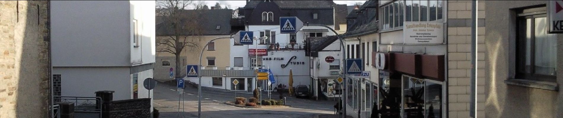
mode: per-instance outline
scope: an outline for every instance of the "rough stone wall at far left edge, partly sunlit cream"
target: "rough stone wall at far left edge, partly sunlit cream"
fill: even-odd
[[[48,1],[0,1],[0,117],[48,117]]]

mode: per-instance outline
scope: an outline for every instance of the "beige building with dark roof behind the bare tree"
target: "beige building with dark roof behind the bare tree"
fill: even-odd
[[[180,41],[193,43],[193,45],[186,46],[182,53],[180,53],[179,62],[182,69],[180,70],[181,77],[186,77],[186,65],[187,64],[198,64],[199,54],[203,49],[203,46],[207,44],[210,40],[216,39],[218,37],[230,37],[233,34],[233,27],[231,26],[231,17],[233,10],[184,10],[182,13],[186,18],[195,18],[188,20],[186,19],[185,27],[196,27],[198,33],[190,34],[188,30],[182,31],[180,35]],[[198,16],[198,17],[192,17]],[[173,28],[169,25],[170,21],[167,21],[166,16],[159,16],[157,20],[157,40],[166,43],[170,36],[175,37],[173,33]],[[191,23],[196,23],[195,25]],[[238,30],[236,30],[238,31]],[[176,38],[176,37],[175,37]],[[174,40],[170,40],[173,42]],[[170,49],[172,48],[170,43],[160,44],[157,43],[157,50]],[[219,39],[207,46],[202,55],[202,69],[225,69],[229,67],[230,58],[230,45],[227,39]],[[166,52],[157,51],[156,56],[157,62],[155,63],[155,74],[154,77],[160,82],[172,81],[173,77],[170,77],[170,69],[173,69],[173,74],[176,74],[176,55]],[[207,80],[207,79],[206,79]],[[211,80],[211,79],[210,79]],[[197,82],[197,81],[192,81]],[[210,81],[211,82],[211,81]],[[203,82],[207,83],[207,82]]]

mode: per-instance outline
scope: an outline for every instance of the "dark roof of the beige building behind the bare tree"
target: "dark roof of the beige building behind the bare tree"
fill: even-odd
[[[185,24],[183,26],[195,26],[199,27],[201,35],[230,35],[231,25],[230,20],[232,17],[233,10],[185,10],[184,14],[190,17],[191,20],[184,19],[182,23],[198,22],[195,25]],[[155,19],[157,21],[156,35],[157,36],[170,36],[173,35],[173,30],[170,23],[163,20],[164,16],[157,16]],[[220,29],[217,30],[217,26],[220,25]],[[182,35],[190,35],[187,32]]]

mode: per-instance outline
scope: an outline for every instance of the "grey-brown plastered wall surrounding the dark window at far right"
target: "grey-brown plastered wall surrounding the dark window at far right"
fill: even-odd
[[[512,8],[543,5],[547,1],[486,1],[486,28],[484,43],[487,53],[484,58],[484,82],[486,117],[563,117],[563,62],[557,61],[559,91],[515,86],[504,83],[515,78],[515,11]],[[494,7],[492,7],[494,6]],[[557,34],[557,58],[563,56],[563,34]],[[480,47],[480,48],[481,48]],[[517,78],[516,78],[517,79]]]

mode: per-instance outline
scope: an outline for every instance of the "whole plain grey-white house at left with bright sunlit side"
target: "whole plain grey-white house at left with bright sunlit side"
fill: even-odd
[[[51,1],[55,96],[147,98],[153,78],[155,1]],[[152,108],[151,108],[152,109]]]

